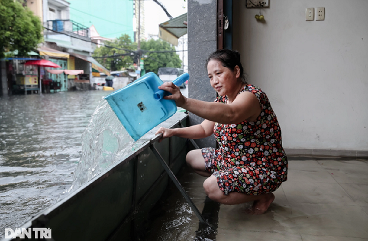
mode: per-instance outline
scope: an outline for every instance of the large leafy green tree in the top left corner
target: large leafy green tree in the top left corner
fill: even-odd
[[[18,1],[0,0],[0,23],[0,58],[15,50],[27,56],[42,42],[40,19]]]

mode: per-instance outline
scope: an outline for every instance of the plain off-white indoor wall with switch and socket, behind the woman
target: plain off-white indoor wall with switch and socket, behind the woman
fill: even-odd
[[[368,1],[273,0],[265,23],[233,1],[233,49],[295,149],[368,150]],[[305,8],[325,7],[324,21]]]

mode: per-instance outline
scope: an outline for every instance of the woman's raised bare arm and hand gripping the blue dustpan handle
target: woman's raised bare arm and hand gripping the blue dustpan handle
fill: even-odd
[[[186,98],[181,94],[180,89],[171,82],[166,82],[159,88],[171,93],[164,99],[173,99],[177,106],[213,122],[236,124],[244,120],[252,121],[261,113],[257,97],[247,91],[239,94],[232,103],[224,104]]]

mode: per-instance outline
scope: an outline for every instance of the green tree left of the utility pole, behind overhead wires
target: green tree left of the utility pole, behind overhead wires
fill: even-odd
[[[96,48],[92,56],[106,69],[116,71],[133,64],[137,44],[132,43],[128,34],[123,34],[113,41],[107,41],[105,45],[109,47]],[[117,56],[113,57],[114,55]]]

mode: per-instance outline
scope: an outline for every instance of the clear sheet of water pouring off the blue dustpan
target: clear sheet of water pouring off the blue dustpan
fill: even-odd
[[[110,108],[101,99],[82,134],[82,156],[75,168],[68,192],[80,187],[111,164],[130,153],[134,140]]]

